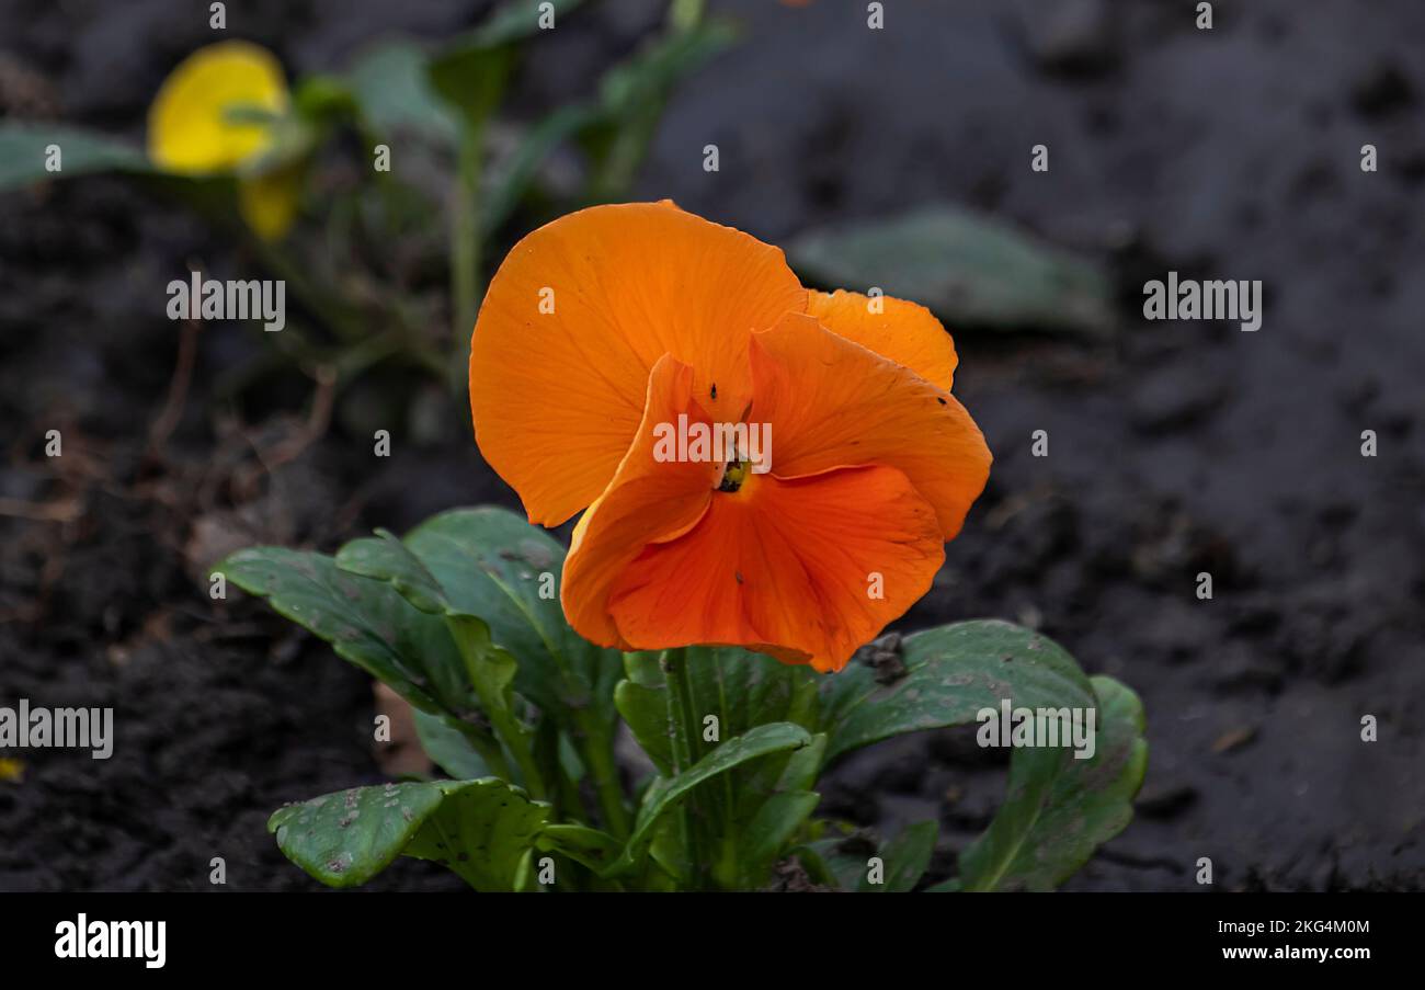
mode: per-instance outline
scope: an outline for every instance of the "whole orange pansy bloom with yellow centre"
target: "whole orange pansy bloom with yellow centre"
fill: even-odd
[[[989,477],[955,366],[923,306],[809,292],[741,231],[621,204],[500,265],[470,410],[532,523],[587,509],[561,583],[580,635],[832,671],[929,590]],[[674,424],[762,430],[770,460],[670,459]]]

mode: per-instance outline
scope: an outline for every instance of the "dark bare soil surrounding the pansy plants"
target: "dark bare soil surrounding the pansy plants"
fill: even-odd
[[[323,70],[479,6],[258,3],[239,24],[229,4],[229,33]],[[1123,292],[1113,340],[956,335],[956,392],[996,463],[899,628],[1016,620],[1141,695],[1137,816],[1073,889],[1198,889],[1203,856],[1217,889],[1425,889],[1425,7],[1224,0],[1198,31],[1193,6],[893,0],[878,33],[856,4],[714,3],[744,41],[673,101],[638,191],[772,242],[949,199],[1103,259]],[[581,93],[656,7],[569,17],[519,105]],[[137,140],[162,75],[212,40],[191,9],[6,4],[4,111]],[[234,278],[252,259],[118,178],[0,209],[0,704],[113,705],[117,731],[108,761],[11,754],[0,890],[212,889],[214,856],[229,889],[315,887],[264,823],[382,779],[370,684],[254,603],[211,603],[205,564],[513,496],[459,402],[390,405],[399,375],[363,379],[309,434],[319,386],[299,372],[217,397],[264,346],[249,326],[197,333],[167,429],[182,330],[162,286],[194,259]],[[1263,279],[1261,330],[1141,321],[1144,279],[1168,269]],[[389,460],[372,409],[396,410]],[[1039,429],[1049,457],[1030,454]],[[822,811],[884,833],[938,816],[943,875],[1002,786],[968,735],[932,734],[852,758]],[[406,860],[372,886],[459,883]]]

